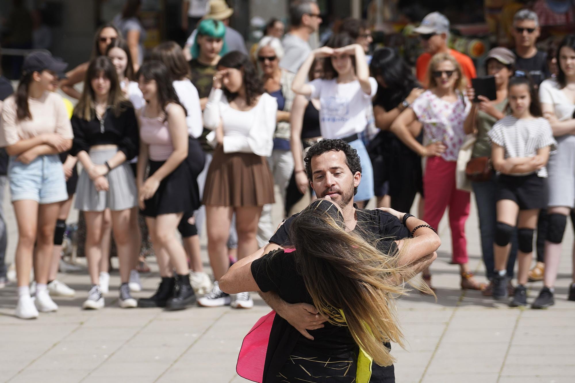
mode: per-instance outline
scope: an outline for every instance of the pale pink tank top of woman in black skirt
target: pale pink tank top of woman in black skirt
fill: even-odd
[[[170,107],[168,105],[167,108]],[[145,117],[145,106],[140,114],[140,138],[148,145],[148,156],[152,161],[166,161],[174,152],[168,121],[162,113],[158,117]]]

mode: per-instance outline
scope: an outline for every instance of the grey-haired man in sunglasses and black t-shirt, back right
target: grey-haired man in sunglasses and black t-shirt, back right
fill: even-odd
[[[540,35],[537,14],[530,9],[517,11],[513,17],[511,33],[515,39],[513,53],[517,56],[515,69],[528,74],[535,86],[539,86],[543,80],[551,77],[551,73],[547,66],[547,53],[539,51],[535,46]]]

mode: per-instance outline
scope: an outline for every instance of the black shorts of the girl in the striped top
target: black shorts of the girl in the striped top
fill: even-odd
[[[514,201],[519,210],[544,209],[549,201],[547,179],[537,173],[527,176],[508,176],[500,174],[496,179],[497,201]]]

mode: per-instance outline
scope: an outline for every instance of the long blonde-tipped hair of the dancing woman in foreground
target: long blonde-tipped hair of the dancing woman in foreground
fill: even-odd
[[[347,326],[356,344],[378,365],[391,365],[395,359],[383,342],[404,347],[395,299],[407,291],[404,281],[415,277],[397,263],[408,246],[397,254],[378,250],[381,239],[369,243],[368,235],[345,231],[338,208],[323,199],[293,220],[290,237],[298,273],[317,310],[329,323]],[[412,285],[433,294],[424,283]]]

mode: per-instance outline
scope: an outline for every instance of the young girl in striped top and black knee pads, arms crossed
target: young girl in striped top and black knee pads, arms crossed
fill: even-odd
[[[518,285],[511,307],[527,304],[527,273],[533,251],[533,231],[539,210],[547,207],[549,155],[557,146],[549,122],[541,114],[538,96],[530,80],[509,80],[511,114],[495,123],[488,135],[492,141],[493,168],[497,171],[497,224],[495,231],[493,298],[507,297],[509,240],[517,225],[519,239]]]

